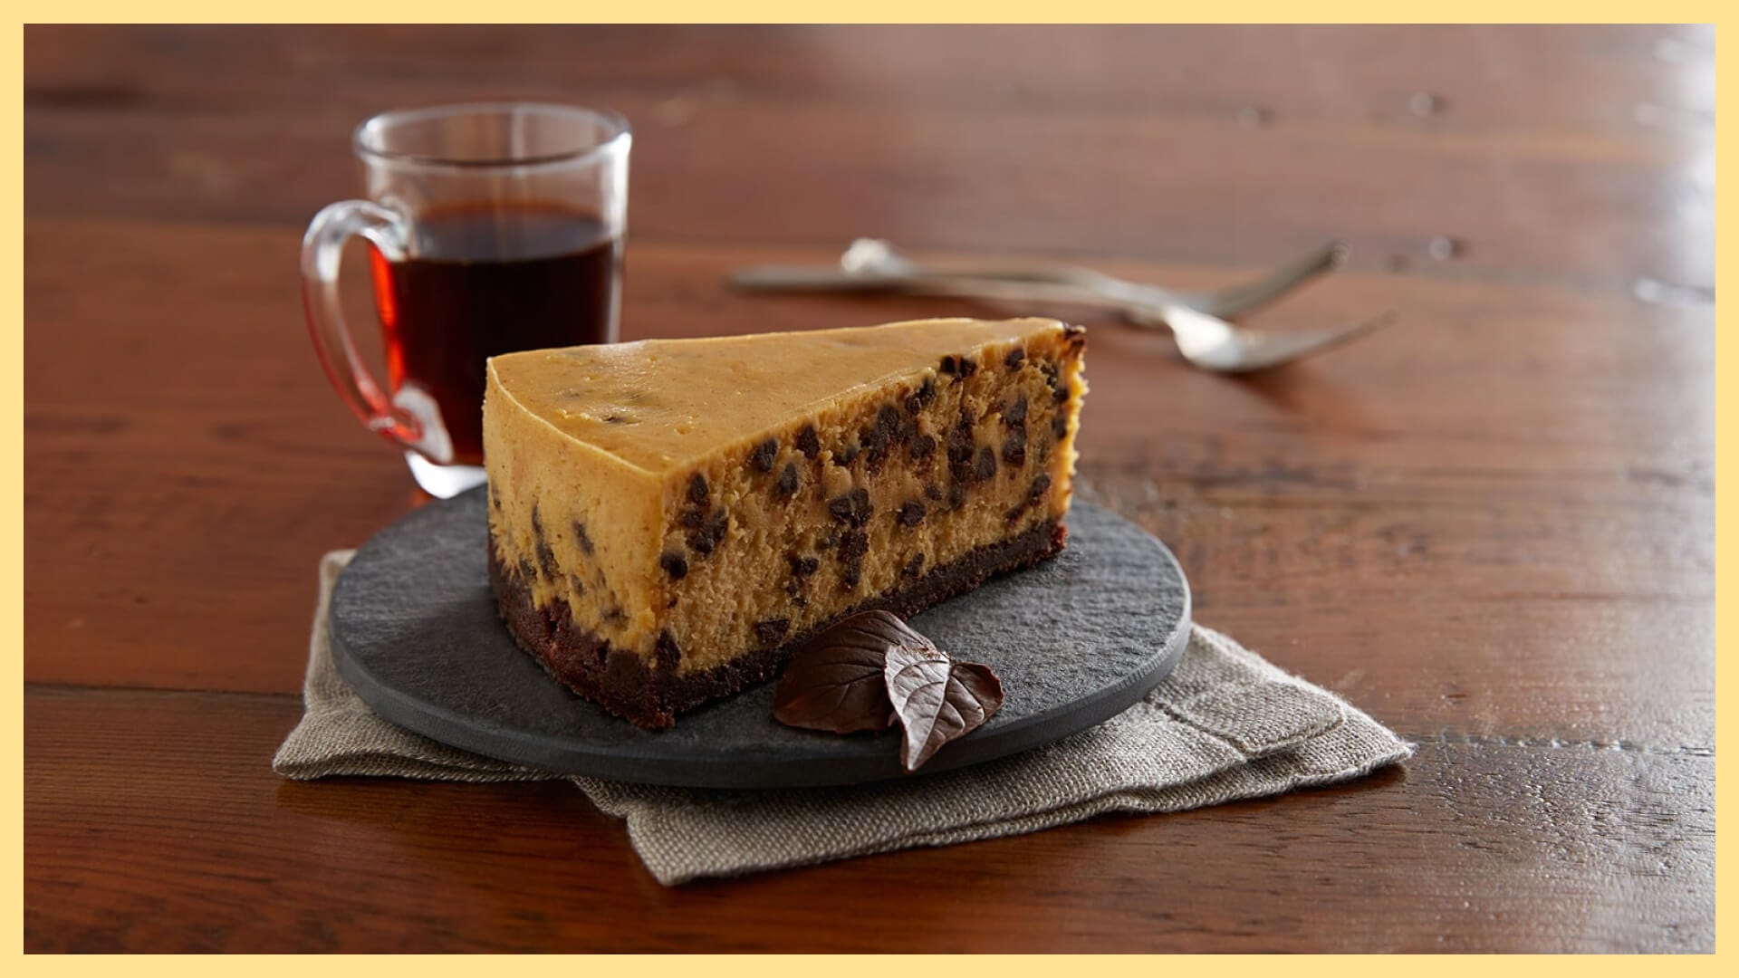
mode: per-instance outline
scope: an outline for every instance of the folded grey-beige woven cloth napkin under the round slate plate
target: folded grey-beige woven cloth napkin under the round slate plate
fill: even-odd
[[[327,599],[351,552],[320,562],[306,713],[285,778],[562,778],[445,747],[374,715],[339,679]],[[1122,715],[989,764],[854,788],[725,792],[572,778],[663,884],[1035,832],[1108,811],[1158,813],[1367,774],[1412,754],[1332,693],[1196,626],[1172,675]]]

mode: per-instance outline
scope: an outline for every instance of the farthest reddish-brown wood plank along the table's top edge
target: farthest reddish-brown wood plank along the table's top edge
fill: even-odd
[[[1419,117],[1409,96],[1476,92],[1445,124],[1626,132],[1609,101],[1680,90],[1666,66],[1711,70],[1708,26],[30,26],[31,108],[254,111],[315,96],[367,110],[379,92],[541,85],[836,101],[953,111],[1203,115],[1266,104]],[[191,61],[191,64],[190,64]],[[1292,75],[1306,84],[1278,85]],[[882,70],[863,70],[880,66]],[[1115,66],[1115,71],[1108,71]],[[193,68],[224,77],[212,85]],[[456,75],[463,78],[456,80]],[[1311,77],[1315,75],[1315,77]],[[367,87],[355,84],[365,78]],[[1332,78],[1332,82],[1330,82]],[[1513,82],[1525,78],[1525,87]],[[1596,85],[1589,89],[1588,85]],[[1398,96],[1383,106],[1370,92]],[[1447,97],[1447,96],[1445,96]],[[1273,99],[1273,101],[1269,101]],[[1704,106],[1706,108],[1706,106]],[[1363,113],[1355,110],[1365,110]]]

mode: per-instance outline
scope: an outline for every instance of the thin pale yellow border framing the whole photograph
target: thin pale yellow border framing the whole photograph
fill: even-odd
[[[1064,9],[1056,3],[936,3],[936,2],[911,2],[911,0],[885,0],[875,5],[863,5],[863,9],[840,9],[836,5],[817,5],[796,3],[791,0],[784,2],[739,2],[729,5],[718,5],[718,9],[710,9],[703,3],[659,3],[654,17],[654,10],[645,5],[558,5],[558,3],[520,3],[511,10],[513,17],[506,16],[506,10],[499,3],[487,7],[478,7],[476,3],[452,3],[452,2],[421,2],[405,3],[398,0],[370,3],[363,9],[372,19],[388,19],[393,14],[416,16],[416,17],[450,17],[461,23],[513,23],[513,21],[567,21],[574,16],[595,17],[596,23],[682,23],[682,21],[699,21],[699,23],[777,23],[777,21],[805,21],[814,23],[817,16],[826,16],[828,19],[843,19],[849,23],[972,23],[974,17],[998,17],[1007,23],[1049,23],[1056,14],[1064,12]],[[1273,0],[1266,3],[1243,3],[1236,10],[1238,17],[1233,17],[1233,10],[1219,5],[1193,5],[1189,9],[1167,9],[1163,5],[1146,5],[1146,3],[1129,3],[1129,2],[1094,2],[1071,3],[1066,12],[1082,17],[1076,23],[1094,23],[1094,21],[1120,21],[1120,23],[1144,23],[1151,21],[1156,14],[1169,14],[1177,17],[1177,23],[1715,23],[1718,28],[1715,3],[1659,3],[1650,5],[1647,10],[1619,3],[1496,3],[1490,0],[1469,0],[1466,3],[1438,3],[1431,9],[1421,9],[1417,5],[1396,7],[1395,3],[1346,3],[1346,2],[1316,2],[1309,5],[1283,5]],[[1296,9],[1294,9],[1296,7]],[[245,14],[247,19],[235,21],[237,14]],[[329,23],[355,23],[358,7],[355,3],[337,3],[332,0],[303,2],[303,3],[271,3],[271,5],[247,5],[237,7],[235,3],[212,3],[212,2],[167,2],[146,5],[127,5],[115,2],[66,2],[66,3],[23,3],[21,5],[21,24],[23,23],[136,23],[141,16],[148,16],[153,21],[162,23],[287,23],[294,17],[310,16],[327,16],[332,17]],[[480,14],[487,14],[480,17]],[[1645,14],[1645,16],[1636,16]],[[1303,16],[1303,19],[1301,19]],[[1395,21],[1396,16],[1403,19]],[[5,792],[5,828],[7,837],[14,839],[12,846],[5,854],[7,860],[7,877],[12,886],[5,891],[5,910],[9,919],[16,921],[16,931],[9,938],[10,950],[14,954],[23,952],[23,757],[24,757],[24,736],[23,736],[23,592],[24,592],[24,553],[23,553],[23,418],[24,418],[24,329],[23,329],[23,200],[24,200],[24,172],[23,172],[23,50],[24,31],[23,26],[5,37],[3,50],[5,61],[14,64],[9,80],[9,97],[0,103],[0,124],[3,124],[5,141],[9,143],[3,167],[5,183],[16,190],[10,193],[5,204],[5,224],[7,237],[0,244],[0,268],[3,268],[7,296],[10,301],[5,306],[3,315],[0,315],[0,338],[3,338],[3,379],[7,381],[5,393],[5,411],[12,418],[5,425],[3,437],[5,445],[0,451],[0,498],[3,498],[7,508],[16,513],[3,529],[3,538],[0,538],[0,550],[3,550],[3,562],[0,562],[0,573],[5,576],[3,586],[3,620],[7,628],[3,632],[3,644],[0,644],[0,653],[3,653],[3,663],[10,670],[9,673],[17,677],[7,689],[7,703],[14,720],[5,727],[7,755],[14,759],[10,776],[3,781]],[[1716,50],[1716,101],[1725,101],[1725,94],[1730,89],[1725,84],[1727,73],[1722,70],[1722,52]],[[1732,158],[1725,150],[1725,134],[1716,132],[1716,158]],[[1718,167],[1725,171],[1727,167]],[[1718,275],[1716,287],[1727,287],[1734,284],[1732,275],[1732,221],[1729,219],[1732,211],[1730,202],[1718,204]],[[1729,325],[1727,320],[1732,317],[1716,313],[1718,329]],[[1734,343],[1718,343],[1716,346],[1716,416],[1718,416],[1718,433],[1716,433],[1716,567],[1730,566],[1730,557],[1734,555],[1736,538],[1732,533],[1732,520],[1729,519],[1734,512],[1734,496],[1730,465],[1725,461],[1732,458],[1732,437],[1736,430],[1736,395],[1734,386],[1739,383],[1739,367],[1734,364]],[[1734,602],[1734,576],[1716,574],[1716,660],[1727,658],[1734,646],[1734,621],[1729,609],[1736,606]],[[1727,710],[1732,701],[1732,682],[1730,670],[1716,668],[1716,717]],[[1718,722],[1718,720],[1716,720]],[[1718,736],[1716,736],[1718,740]],[[1734,783],[1734,762],[1732,754],[1716,755],[1716,820],[1718,825],[1727,821],[1725,813],[1730,811],[1732,792],[1720,788],[1720,785]],[[1730,863],[1730,860],[1729,860]],[[1729,901],[1725,896],[1734,894],[1730,886],[1734,872],[1732,867],[1722,867],[1716,863],[1716,948],[1725,945],[1725,938],[1730,934],[1727,926],[1732,912],[1729,910]],[[1155,894],[1156,900],[1163,898]],[[1687,971],[1709,971],[1716,964],[1716,955],[1689,959],[1683,962],[1675,961],[1671,968],[1685,968]],[[85,971],[101,968],[101,964],[90,959],[45,959],[45,957],[28,957],[26,966],[33,971],[42,969],[66,969],[66,971]],[[1548,968],[1574,968],[1577,973],[1617,973],[1617,969],[1631,969],[1643,962],[1622,962],[1612,959],[1588,961],[1579,959],[1576,962],[1562,964],[1553,961]],[[989,968],[996,971],[1009,973],[1050,973],[1059,964],[1038,959],[1019,959],[1019,961],[995,961],[995,962],[974,962],[972,968]],[[1423,975],[1447,973],[1450,968],[1461,969],[1464,962],[1445,961],[1445,959],[1424,959],[1402,962],[1370,962],[1370,961],[1306,961],[1306,962],[1287,962],[1287,971],[1303,969],[1306,975],[1322,973],[1329,968],[1346,969],[1353,968],[1358,971],[1376,973],[1383,969],[1384,973],[1395,968],[1405,968],[1407,971],[1419,971]],[[1647,964],[1643,964],[1647,966]],[[176,964],[153,964],[153,962],[129,962],[129,969],[146,969],[155,971],[155,968],[176,968],[176,969],[193,969],[203,971],[207,968],[233,968],[228,962],[209,962],[205,959],[186,959]],[[252,962],[250,968],[301,968],[297,962],[285,964],[282,961],[259,961]],[[322,968],[377,968],[370,964],[355,964],[351,961],[334,962],[330,966],[322,964]],[[438,964],[417,964],[417,968],[435,968],[436,971],[454,971],[475,969],[475,964],[463,961],[445,961]],[[523,964],[515,964],[515,969],[525,969],[527,973],[553,973],[560,969],[563,975],[570,973],[574,962],[562,961],[529,961]],[[593,968],[593,964],[586,964]],[[722,973],[727,978],[732,975],[748,975],[750,968],[755,975],[765,976],[769,973],[788,973],[798,975],[807,973],[816,968],[816,962],[807,959],[779,959],[776,962],[755,961],[746,962],[734,957],[725,959],[706,959],[706,961],[683,961],[683,962],[649,962],[649,961],[623,961],[619,968],[633,969],[640,975],[675,975],[676,968],[685,971],[694,968],[706,975]],[[826,964],[830,973],[840,975],[840,978],[870,978],[871,975],[885,975],[889,968],[909,968],[909,964],[901,964],[885,959],[852,959],[852,961],[830,961]],[[960,968],[960,964],[929,961],[923,968]],[[1090,968],[1104,973],[1122,973],[1122,975],[1151,975],[1148,969],[1153,968],[1151,962],[1143,959],[1108,959],[1090,964]],[[1257,968],[1245,959],[1216,959],[1216,971],[1243,971]],[[1497,968],[1499,973],[1520,973],[1522,969],[1537,969],[1541,962],[1534,961],[1513,961],[1502,959],[1497,962],[1482,962],[1482,969]],[[666,971],[668,969],[668,971]],[[1040,971],[1042,969],[1042,971]]]

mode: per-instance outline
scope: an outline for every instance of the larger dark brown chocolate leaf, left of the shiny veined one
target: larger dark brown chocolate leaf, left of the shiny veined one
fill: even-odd
[[[842,618],[791,656],[772,696],[776,720],[831,733],[882,731],[894,722],[883,665],[889,649],[936,649],[885,611]]]

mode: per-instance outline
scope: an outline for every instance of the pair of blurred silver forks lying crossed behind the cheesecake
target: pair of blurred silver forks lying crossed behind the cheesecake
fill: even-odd
[[[889,291],[1111,306],[1122,310],[1123,317],[1136,325],[1169,329],[1177,341],[1179,353],[1193,365],[1240,374],[1278,367],[1332,350],[1393,318],[1389,313],[1383,313],[1337,327],[1278,334],[1238,327],[1219,318],[1271,303],[1337,266],[1343,256],[1344,249],[1336,242],[1289,261],[1254,282],[1216,292],[1172,292],[1073,265],[925,266],[901,256],[887,242],[859,238],[845,251],[838,270],[744,268],[730,277],[730,284],[753,291]]]

